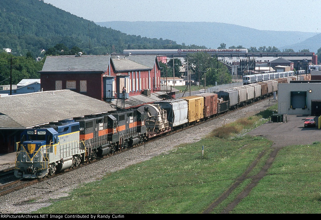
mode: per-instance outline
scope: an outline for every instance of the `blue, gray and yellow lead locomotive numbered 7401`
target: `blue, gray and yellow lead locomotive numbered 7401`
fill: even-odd
[[[15,176],[41,178],[77,166],[86,149],[79,141],[79,122],[62,120],[26,129],[18,143]]]

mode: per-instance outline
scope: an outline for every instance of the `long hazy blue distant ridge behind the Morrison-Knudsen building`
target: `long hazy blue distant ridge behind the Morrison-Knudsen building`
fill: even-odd
[[[299,49],[297,50],[301,50],[308,48],[300,48],[300,42],[318,34],[299,31],[258,30],[218,22],[107,21],[95,23],[127,34],[172,39],[178,44],[204,45],[208,48],[217,48],[221,43],[225,43],[227,48],[232,45],[242,45],[246,48],[251,46],[290,48],[286,45],[298,45],[296,48]]]

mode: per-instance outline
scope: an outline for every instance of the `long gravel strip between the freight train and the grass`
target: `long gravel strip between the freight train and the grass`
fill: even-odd
[[[276,102],[271,101],[270,105]],[[144,154],[143,145],[88,166],[80,167],[64,175],[59,175],[4,195],[0,197],[0,213],[30,213],[39,208],[47,207],[53,200],[67,196],[68,192],[79,186],[79,184],[95,181],[102,178],[108,172],[115,172],[132,164],[151,159],[161,153],[169,152],[174,150],[175,146],[179,144],[197,142],[214,128],[222,126],[224,118],[226,119],[225,123],[230,123],[238,118],[248,117],[265,110],[268,105],[269,101],[264,100],[203,124],[193,126],[183,132],[148,142],[145,146],[146,154]]]

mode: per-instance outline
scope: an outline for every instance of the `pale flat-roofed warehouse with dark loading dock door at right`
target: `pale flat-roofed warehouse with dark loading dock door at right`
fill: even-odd
[[[321,115],[321,81],[291,81],[278,86],[278,113]]]

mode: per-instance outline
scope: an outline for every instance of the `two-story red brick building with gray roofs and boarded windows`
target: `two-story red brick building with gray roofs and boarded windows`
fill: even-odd
[[[128,98],[160,85],[155,55],[48,56],[39,73],[43,91],[70,89],[104,101],[116,98],[123,87]]]

